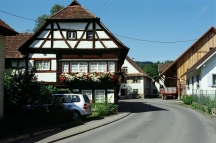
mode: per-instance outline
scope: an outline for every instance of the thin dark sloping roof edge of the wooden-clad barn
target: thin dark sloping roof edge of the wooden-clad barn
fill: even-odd
[[[170,66],[168,66],[161,74],[160,76],[162,76],[164,73],[166,73],[173,65],[175,65],[177,63],[177,61],[183,57],[189,50],[191,50],[202,38],[204,38],[206,36],[207,33],[209,33],[210,31],[213,31],[216,33],[216,29],[212,26],[208,31],[206,31],[194,44],[192,44],[183,54],[181,54]],[[157,80],[160,78],[160,76],[157,78]]]

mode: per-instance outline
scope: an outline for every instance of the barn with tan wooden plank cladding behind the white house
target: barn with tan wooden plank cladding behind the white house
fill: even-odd
[[[167,67],[157,80],[161,80],[167,87],[178,87],[178,98],[185,94],[186,75],[182,76],[216,44],[216,29],[211,27],[183,54],[181,54],[169,67]]]

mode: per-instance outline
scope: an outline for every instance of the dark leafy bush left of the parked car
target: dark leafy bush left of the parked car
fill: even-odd
[[[49,98],[51,92],[39,82],[35,71],[17,69],[4,75],[6,105],[19,107],[33,104],[41,98]]]

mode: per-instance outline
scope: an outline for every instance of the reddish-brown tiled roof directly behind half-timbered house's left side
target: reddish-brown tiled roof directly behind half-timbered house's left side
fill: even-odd
[[[16,36],[6,36],[5,58],[23,58],[23,55],[17,49],[32,35],[33,33],[20,33]]]

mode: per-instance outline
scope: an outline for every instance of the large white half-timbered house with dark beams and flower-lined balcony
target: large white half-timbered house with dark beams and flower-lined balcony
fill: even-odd
[[[19,51],[38,80],[67,86],[96,102],[117,102],[129,48],[76,0],[46,19]]]

